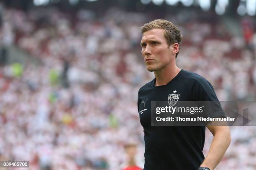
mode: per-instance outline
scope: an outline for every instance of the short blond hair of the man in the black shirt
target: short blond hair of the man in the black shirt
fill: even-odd
[[[182,43],[182,35],[176,25],[174,25],[170,21],[158,19],[158,20],[154,20],[154,21],[144,24],[141,27],[141,33],[143,34],[144,32],[147,32],[154,28],[164,29],[164,37],[167,41],[167,44],[170,46],[174,43],[178,43],[179,50],[180,50],[181,43]],[[177,52],[177,54],[175,56],[176,58],[177,58],[178,54],[179,54],[179,52]]]

